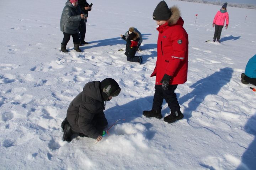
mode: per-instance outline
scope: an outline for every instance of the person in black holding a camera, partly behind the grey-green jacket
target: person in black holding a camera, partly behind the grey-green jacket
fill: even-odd
[[[79,26],[79,36],[80,36],[80,44],[89,44],[88,42],[86,42],[85,39],[85,33],[86,33],[86,22],[87,22],[87,17],[89,12],[91,11],[91,7],[89,6],[89,4],[86,2],[86,0],[78,0],[78,6],[80,8],[80,10],[82,11],[82,14],[85,15],[84,19],[82,19],[80,21],[80,26]]]

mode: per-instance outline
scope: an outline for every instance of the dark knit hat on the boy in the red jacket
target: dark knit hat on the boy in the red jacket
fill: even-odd
[[[153,19],[158,21],[167,21],[171,16],[171,10],[165,1],[159,2],[153,12]]]

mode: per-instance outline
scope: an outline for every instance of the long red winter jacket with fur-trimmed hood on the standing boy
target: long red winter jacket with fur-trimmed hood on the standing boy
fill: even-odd
[[[172,13],[173,16],[174,12]],[[160,81],[164,74],[172,77],[170,84],[183,84],[187,81],[188,34],[183,28],[183,23],[183,19],[178,15],[178,19],[174,19],[174,22],[168,21],[157,28],[159,31],[157,60],[154,72],[150,76],[156,75],[156,85],[161,85]]]

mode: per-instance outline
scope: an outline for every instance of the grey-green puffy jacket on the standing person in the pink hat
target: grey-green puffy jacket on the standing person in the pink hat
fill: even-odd
[[[80,14],[79,7],[73,6],[69,0],[66,1],[66,6],[63,8],[60,18],[60,30],[68,34],[79,33]]]

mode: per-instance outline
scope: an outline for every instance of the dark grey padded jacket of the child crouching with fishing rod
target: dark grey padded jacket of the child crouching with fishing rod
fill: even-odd
[[[76,132],[96,139],[101,134],[94,127],[92,119],[99,114],[105,118],[103,110],[104,103],[100,91],[100,81],[91,81],[70,103],[67,119]]]

